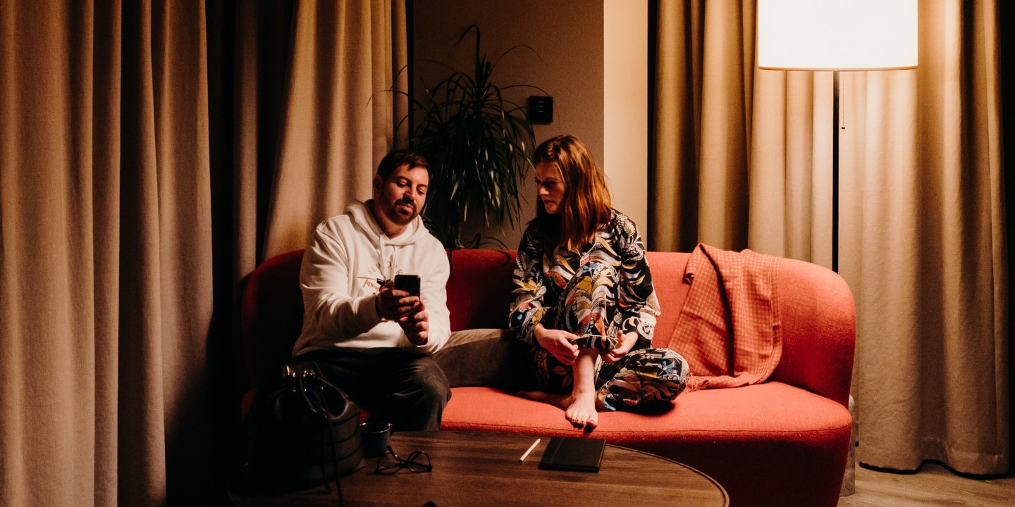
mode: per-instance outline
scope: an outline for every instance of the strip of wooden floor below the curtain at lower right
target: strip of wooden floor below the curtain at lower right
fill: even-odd
[[[839,499],[838,507],[1015,507],[1013,473],[1000,479],[968,479],[925,463],[916,474],[857,466],[856,478],[856,493]]]

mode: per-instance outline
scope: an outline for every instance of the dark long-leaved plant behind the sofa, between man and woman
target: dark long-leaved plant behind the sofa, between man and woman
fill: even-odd
[[[466,28],[458,42],[470,32],[476,40],[471,73],[454,71],[432,87],[424,86],[420,98],[410,97],[414,108],[410,143],[426,157],[433,174],[423,220],[448,248],[477,247],[483,242],[480,233],[467,241],[460,237],[470,214],[478,214],[487,228],[502,225],[505,219],[515,225],[521,211],[519,180],[531,168],[535,148],[525,107],[503,92],[539,88],[498,86],[492,81],[500,58],[516,49],[532,48],[516,46],[491,62],[481,51],[477,25]]]

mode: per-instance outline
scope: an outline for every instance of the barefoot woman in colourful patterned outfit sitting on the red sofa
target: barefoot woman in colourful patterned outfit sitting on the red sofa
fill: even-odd
[[[578,138],[544,141],[533,165],[539,199],[518,248],[510,327],[532,345],[544,390],[520,394],[560,407],[586,431],[598,411],[669,403],[688,368],[652,348],[659,301],[634,222],[611,207]]]

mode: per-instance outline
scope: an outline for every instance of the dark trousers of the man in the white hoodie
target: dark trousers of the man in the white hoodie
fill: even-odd
[[[402,348],[330,349],[293,359],[315,361],[322,375],[395,431],[436,431],[451,400],[448,377],[428,354]]]

